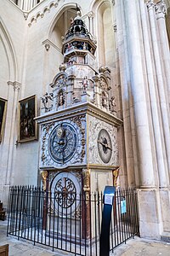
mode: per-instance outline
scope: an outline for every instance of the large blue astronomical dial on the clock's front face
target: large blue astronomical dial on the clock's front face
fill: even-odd
[[[71,160],[77,149],[77,131],[74,126],[66,122],[57,125],[49,137],[48,149],[51,158],[59,164]]]

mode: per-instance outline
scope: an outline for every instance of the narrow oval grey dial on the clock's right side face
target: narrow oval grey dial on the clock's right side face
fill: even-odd
[[[109,163],[109,161],[111,160],[112,145],[111,137],[105,129],[99,131],[98,150],[101,160],[105,164]]]

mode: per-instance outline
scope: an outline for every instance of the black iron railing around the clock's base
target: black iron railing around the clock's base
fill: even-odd
[[[102,193],[44,192],[41,188],[11,187],[7,235],[64,250],[75,255],[99,255]],[[116,191],[111,219],[111,251],[139,234],[135,189]]]

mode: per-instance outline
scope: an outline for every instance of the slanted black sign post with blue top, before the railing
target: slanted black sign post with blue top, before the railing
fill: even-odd
[[[114,202],[115,187],[105,186],[104,209],[102,212],[101,234],[99,237],[99,256],[109,256],[110,253],[110,227],[111,210]]]

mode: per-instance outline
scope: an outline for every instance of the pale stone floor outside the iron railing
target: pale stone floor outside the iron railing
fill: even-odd
[[[71,253],[52,250],[47,247],[34,246],[29,241],[18,241],[14,236],[6,236],[7,221],[0,221],[0,245],[9,244],[9,256],[61,256],[73,255]],[[110,256],[170,256],[170,243],[150,241],[135,237],[126,244],[117,247]],[[105,255],[103,255],[105,256]]]

